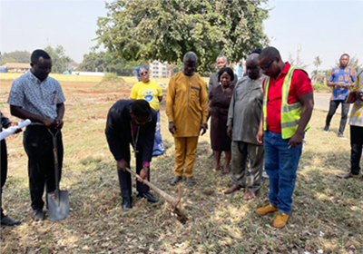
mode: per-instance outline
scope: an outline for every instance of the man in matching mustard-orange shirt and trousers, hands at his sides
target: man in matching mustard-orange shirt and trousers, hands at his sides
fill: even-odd
[[[166,114],[169,119],[169,131],[175,141],[175,171],[171,185],[182,180],[184,175],[187,185],[194,185],[192,169],[197,152],[198,137],[207,129],[208,99],[207,89],[201,76],[195,73],[198,58],[188,52],[183,58],[183,71],[176,73],[168,86]]]

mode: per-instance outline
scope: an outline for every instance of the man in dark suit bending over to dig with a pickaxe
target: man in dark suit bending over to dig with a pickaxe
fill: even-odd
[[[136,158],[136,173],[143,180],[150,180],[156,121],[156,112],[145,100],[120,100],[108,112],[105,134],[113,158],[117,161],[123,210],[132,208],[131,174],[126,171],[126,168],[130,168],[130,143]],[[136,189],[138,197],[150,202],[159,201],[142,181],[137,181]]]

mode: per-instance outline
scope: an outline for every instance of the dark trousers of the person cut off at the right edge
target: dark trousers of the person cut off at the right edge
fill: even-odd
[[[362,157],[363,127],[350,125],[350,172],[358,175],[359,162]]]

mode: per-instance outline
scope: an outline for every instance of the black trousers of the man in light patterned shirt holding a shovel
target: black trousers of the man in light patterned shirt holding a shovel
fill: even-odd
[[[28,155],[28,176],[33,210],[43,210],[44,186],[46,192],[55,190],[53,137],[44,125],[30,125],[26,128],[23,140]],[[63,142],[62,132],[57,135],[59,180],[62,175]]]

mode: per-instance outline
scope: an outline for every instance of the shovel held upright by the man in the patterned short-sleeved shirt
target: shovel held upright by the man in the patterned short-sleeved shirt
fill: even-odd
[[[58,146],[56,136],[59,131],[53,133],[48,129],[53,137],[53,153],[54,153],[54,174],[55,174],[55,190],[46,195],[48,201],[49,219],[53,221],[64,220],[69,213],[68,190],[59,190],[59,165],[58,165]]]

